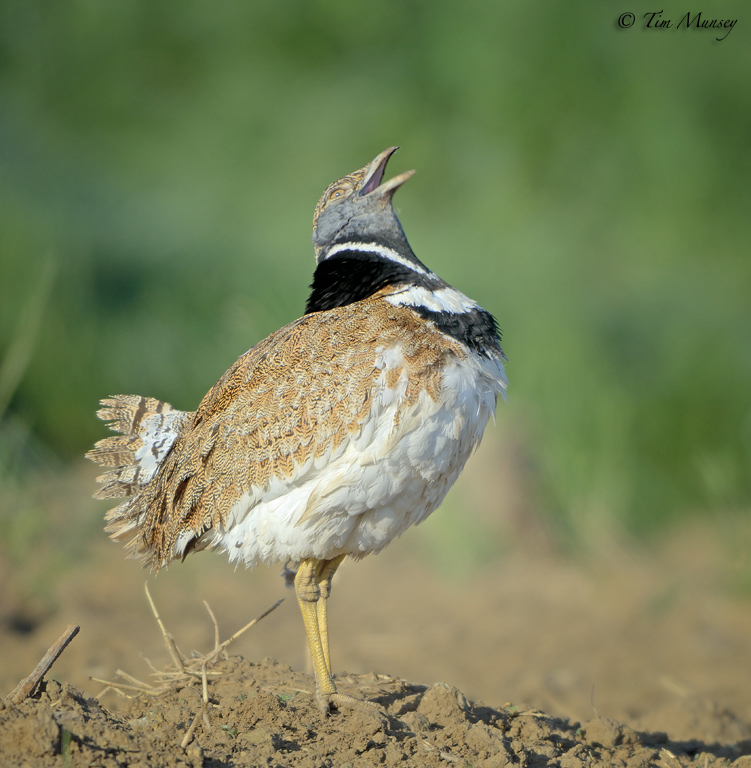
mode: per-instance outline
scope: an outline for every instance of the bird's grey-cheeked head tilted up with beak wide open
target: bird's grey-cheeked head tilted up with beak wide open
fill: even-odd
[[[400,253],[412,254],[394,213],[394,192],[414,175],[405,171],[382,182],[386,164],[398,147],[389,147],[372,162],[331,184],[318,201],[313,216],[316,262],[334,246],[347,242],[372,242]]]

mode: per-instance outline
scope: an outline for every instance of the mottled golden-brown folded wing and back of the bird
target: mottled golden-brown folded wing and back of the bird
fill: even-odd
[[[113,538],[155,567],[179,536],[220,526],[251,487],[293,483],[367,418],[382,323],[351,312],[308,315],[233,365],[201,402],[153,481],[110,513]],[[377,326],[381,325],[381,328]],[[186,550],[186,551],[188,551]]]

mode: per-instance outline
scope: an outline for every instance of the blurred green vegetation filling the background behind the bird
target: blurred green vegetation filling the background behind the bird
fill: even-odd
[[[73,462],[118,392],[195,408],[302,311],[325,186],[400,144],[402,223],[504,329],[499,420],[556,525],[747,510],[751,15],[711,5],[721,43],[643,3],[3,0],[6,445]]]

